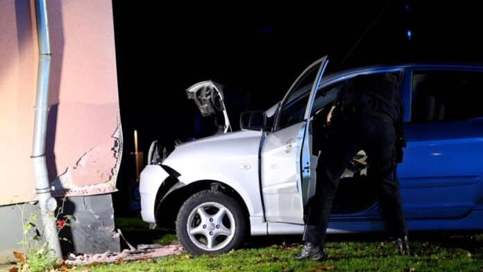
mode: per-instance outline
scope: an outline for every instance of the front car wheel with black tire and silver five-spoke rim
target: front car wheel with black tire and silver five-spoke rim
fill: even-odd
[[[189,197],[176,219],[181,245],[194,255],[226,253],[246,237],[242,205],[227,194],[205,190]]]

